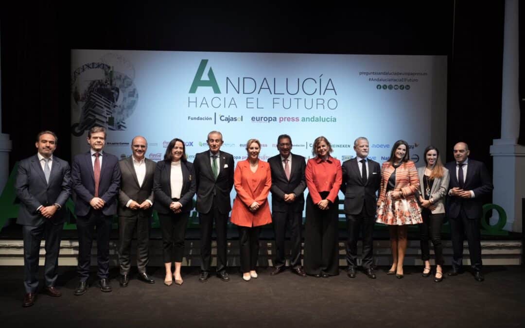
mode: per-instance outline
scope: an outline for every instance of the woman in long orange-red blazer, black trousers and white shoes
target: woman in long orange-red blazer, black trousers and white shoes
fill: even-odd
[[[259,255],[260,227],[271,223],[268,205],[270,165],[259,160],[260,146],[257,139],[248,140],[248,158],[237,163],[234,174],[237,196],[232,208],[232,223],[239,227],[240,268],[245,281],[257,278],[255,265]]]

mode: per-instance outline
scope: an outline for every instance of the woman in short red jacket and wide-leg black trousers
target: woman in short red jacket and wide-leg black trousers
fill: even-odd
[[[313,142],[306,163],[306,224],[304,226],[304,270],[316,278],[339,274],[339,188],[343,181],[341,162],[330,156],[332,146],[324,137]]]

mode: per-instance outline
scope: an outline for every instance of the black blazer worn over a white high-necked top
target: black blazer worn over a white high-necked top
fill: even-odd
[[[195,195],[195,172],[193,164],[190,162],[181,162],[182,170],[182,191],[181,198],[178,202],[182,204],[182,211],[189,212],[193,208],[193,196]],[[157,163],[155,175],[153,177],[153,193],[155,195],[155,204],[153,208],[161,214],[171,213],[171,161],[164,160]]]

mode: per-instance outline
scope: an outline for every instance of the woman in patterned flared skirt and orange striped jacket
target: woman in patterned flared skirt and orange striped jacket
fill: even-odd
[[[388,225],[393,263],[387,274],[403,278],[408,225],[423,223],[416,201],[419,177],[416,165],[409,161],[408,143],[398,140],[392,147],[390,159],[381,167],[381,187],[377,199],[376,222]]]

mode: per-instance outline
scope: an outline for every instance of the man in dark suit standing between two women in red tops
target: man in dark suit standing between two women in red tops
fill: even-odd
[[[277,137],[277,149],[279,155],[268,158],[271,171],[271,210],[276,245],[275,268],[270,274],[275,276],[285,271],[285,235],[288,226],[291,244],[290,267],[299,276],[306,277],[306,272],[301,265],[306,162],[303,156],[291,153],[292,140],[288,134],[281,134]]]

